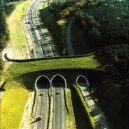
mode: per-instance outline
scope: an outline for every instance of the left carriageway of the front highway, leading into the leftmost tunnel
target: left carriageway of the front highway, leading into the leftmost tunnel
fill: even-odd
[[[36,107],[35,107],[35,123],[33,129],[47,129],[48,127],[48,112],[49,112],[49,95],[50,85],[40,83],[37,86]],[[38,119],[41,116],[41,119]]]

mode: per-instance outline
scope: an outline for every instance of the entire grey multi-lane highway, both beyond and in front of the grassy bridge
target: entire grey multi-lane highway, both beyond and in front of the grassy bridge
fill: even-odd
[[[41,28],[38,7],[42,2],[48,1],[33,0],[24,17],[30,58],[59,56],[54,44],[49,42],[49,37]],[[37,85],[34,107],[36,122],[32,125],[33,129],[65,129],[64,89],[60,83],[57,85],[58,88],[50,89],[42,80],[40,86]],[[37,119],[39,116],[41,118]]]

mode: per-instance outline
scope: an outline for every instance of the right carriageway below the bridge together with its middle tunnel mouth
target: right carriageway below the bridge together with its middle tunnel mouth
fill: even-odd
[[[53,101],[54,101],[54,113],[53,113],[53,129],[65,129],[66,119],[66,105],[64,90],[66,82],[62,75],[55,75],[51,79],[51,85],[53,88]]]

